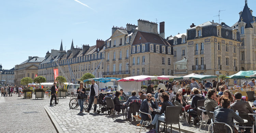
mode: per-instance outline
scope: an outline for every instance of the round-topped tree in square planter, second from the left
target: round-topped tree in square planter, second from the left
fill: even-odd
[[[45,81],[46,81],[46,78],[44,76],[35,77],[34,83],[39,84],[39,88],[34,90],[34,92],[35,92],[35,99],[36,98],[42,98],[42,99],[44,98],[45,90],[41,89],[41,83],[44,83]]]

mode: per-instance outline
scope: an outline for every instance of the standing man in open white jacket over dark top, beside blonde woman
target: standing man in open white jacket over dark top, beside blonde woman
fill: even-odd
[[[93,104],[94,102],[94,99],[96,97],[98,97],[98,92],[99,92],[99,87],[98,85],[95,83],[95,80],[91,80],[91,88],[90,88],[90,91],[89,91],[89,105],[88,105],[88,108],[87,110],[85,110],[85,112],[90,112],[91,110],[91,105]],[[97,109],[97,104],[94,104],[94,111],[93,113],[96,112],[96,109]]]

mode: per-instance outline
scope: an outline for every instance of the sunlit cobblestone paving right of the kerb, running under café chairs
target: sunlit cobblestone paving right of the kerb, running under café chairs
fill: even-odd
[[[116,115],[113,120],[112,115],[93,113],[93,110],[90,110],[90,113],[79,113],[80,107],[76,109],[69,108],[69,100],[70,98],[63,99],[56,106],[45,106],[65,133],[138,133],[140,131],[140,127],[136,126],[139,121],[125,121],[121,114]],[[207,133],[207,129],[203,129],[204,126],[201,127],[202,130],[199,132],[199,126],[189,126],[184,119],[180,122],[180,125],[181,131],[187,133]],[[173,128],[175,129],[172,130],[173,133],[179,131],[178,124],[173,125]],[[144,131],[143,128],[141,132],[145,133],[148,130]]]

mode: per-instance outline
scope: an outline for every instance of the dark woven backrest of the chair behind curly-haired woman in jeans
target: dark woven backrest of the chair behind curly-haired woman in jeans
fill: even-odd
[[[180,111],[182,106],[167,106],[165,113],[166,124],[179,124]]]

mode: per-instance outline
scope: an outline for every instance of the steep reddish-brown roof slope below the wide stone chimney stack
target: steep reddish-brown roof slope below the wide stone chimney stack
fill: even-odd
[[[159,34],[137,31],[137,34],[133,40],[132,45],[142,44],[142,43],[155,43],[171,46],[166,39],[163,39]]]

